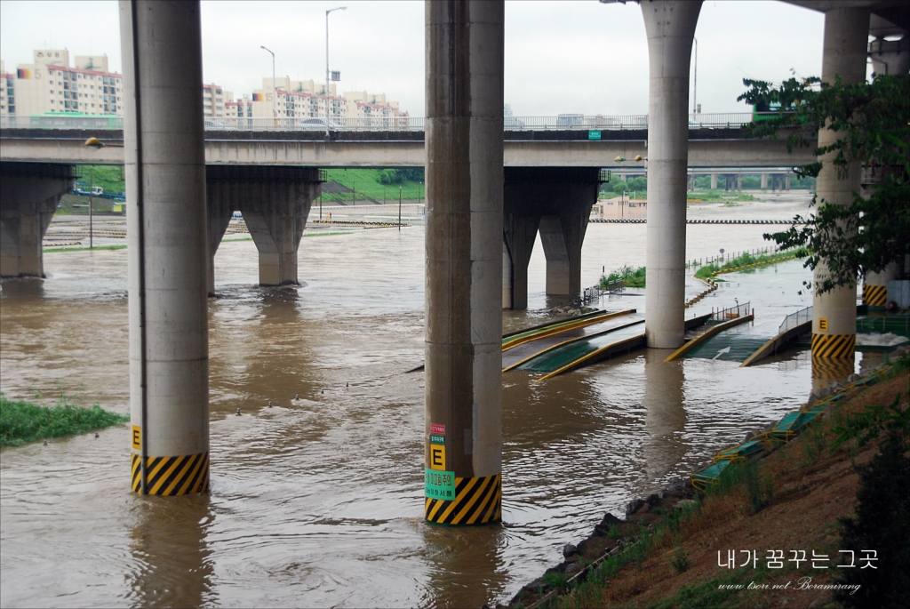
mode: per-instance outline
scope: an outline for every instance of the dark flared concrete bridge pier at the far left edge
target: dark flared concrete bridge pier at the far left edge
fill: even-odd
[[[69,165],[0,163],[0,277],[44,277],[42,241],[73,189]]]

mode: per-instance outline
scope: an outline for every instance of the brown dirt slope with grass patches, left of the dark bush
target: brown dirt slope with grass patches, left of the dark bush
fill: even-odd
[[[805,550],[810,557],[817,551],[832,556],[831,564],[837,562],[837,519],[853,513],[859,487],[854,463],[868,462],[877,443],[864,448],[844,444],[833,451],[832,427],[843,424],[847,413],[890,403],[898,393],[906,408],[908,391],[910,375],[905,365],[895,366],[890,380],[835,406],[831,420],[814,424],[794,442],[751,462],[751,476],[741,469],[739,475],[726,476],[691,509],[657,516],[660,520],[652,523],[652,532],[644,533],[640,550],[602,563],[586,582],[543,606],[836,606],[831,591],[793,589],[806,576],[813,578],[812,584],[831,584],[833,571],[813,569],[811,563],[797,570],[788,562],[790,550]],[[756,550],[757,568],[718,567],[718,552],[723,557],[731,549]],[[767,552],[775,549],[785,551],[783,569],[766,566]],[[736,555],[738,561],[743,557]],[[790,586],[784,588],[788,582]],[[768,588],[750,590],[749,584]],[[774,585],[782,587],[773,589]]]

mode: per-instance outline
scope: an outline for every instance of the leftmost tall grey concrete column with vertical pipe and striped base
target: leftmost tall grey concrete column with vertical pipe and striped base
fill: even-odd
[[[206,165],[198,1],[121,0],[132,488],[208,489]]]

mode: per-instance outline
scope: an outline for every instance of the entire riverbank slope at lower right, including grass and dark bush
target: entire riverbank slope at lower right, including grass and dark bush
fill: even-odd
[[[875,381],[831,402],[824,419],[734,462],[704,491],[677,479],[629,502],[624,519],[607,513],[508,606],[904,606],[910,355],[894,355]],[[869,548],[875,569],[860,569]],[[849,565],[850,553],[854,568],[834,568]]]

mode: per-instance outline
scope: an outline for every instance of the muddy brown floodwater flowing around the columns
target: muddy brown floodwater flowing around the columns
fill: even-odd
[[[763,229],[690,226],[689,255],[760,247]],[[584,285],[602,266],[643,264],[644,234],[591,225]],[[4,449],[0,604],[480,607],[558,562],[604,511],[622,513],[811,389],[800,353],[743,370],[642,350],[540,383],[508,372],[503,522],[430,526],[423,374],[403,373],[423,359],[423,237],[414,226],[303,239],[306,285],[282,289],[255,285],[251,241],[225,242],[209,308],[211,494],[129,492],[126,427]],[[126,250],[48,253],[45,269],[43,281],[2,284],[3,391],[128,411]],[[553,304],[543,283],[538,242],[531,310],[507,313],[506,329],[540,323]],[[749,299],[724,287],[699,310],[736,295]]]

